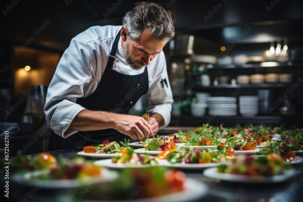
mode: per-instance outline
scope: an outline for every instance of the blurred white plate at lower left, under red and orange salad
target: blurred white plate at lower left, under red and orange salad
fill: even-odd
[[[108,169],[102,168],[102,173],[99,176],[87,177],[84,179],[63,179],[63,180],[44,180],[37,179],[41,174],[47,174],[49,170],[32,171],[29,173],[15,174],[13,180],[25,186],[36,187],[37,182],[44,184],[42,188],[47,189],[62,189],[62,188],[77,188],[83,185],[94,182],[96,178],[100,182],[109,182],[115,180],[118,177],[118,173],[115,171],[109,171]]]

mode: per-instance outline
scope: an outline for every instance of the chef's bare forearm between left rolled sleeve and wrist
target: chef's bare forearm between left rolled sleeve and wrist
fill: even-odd
[[[76,115],[68,129],[73,131],[95,131],[115,128],[115,115],[106,111],[84,109]]]

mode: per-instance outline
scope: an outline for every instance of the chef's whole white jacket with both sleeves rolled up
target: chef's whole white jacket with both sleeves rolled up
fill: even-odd
[[[90,27],[72,38],[69,47],[64,51],[49,84],[44,107],[46,121],[56,134],[66,138],[78,132],[67,130],[75,116],[85,109],[76,104],[76,100],[85,98],[96,90],[108,62],[113,41],[121,27]],[[128,66],[122,55],[121,36],[112,69],[125,75],[138,75],[144,71],[144,68],[133,70]],[[159,125],[161,129],[170,122],[173,102],[163,51],[150,61],[147,69],[147,112],[161,114],[164,118],[164,123]],[[168,86],[164,83],[162,87],[161,79],[165,78]]]

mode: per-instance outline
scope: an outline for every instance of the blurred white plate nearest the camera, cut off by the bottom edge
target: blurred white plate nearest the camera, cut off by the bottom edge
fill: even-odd
[[[201,181],[200,181],[201,179]],[[203,178],[199,178],[197,180],[188,178],[184,182],[184,190],[170,193],[158,197],[152,197],[152,198],[141,198],[136,199],[134,198],[133,202],[155,202],[155,201],[165,201],[165,202],[175,202],[175,201],[181,201],[181,197],[186,197],[186,200],[184,201],[197,201],[203,197],[205,197],[208,194],[209,188],[208,186],[203,183]],[[195,187],[195,188],[193,188]],[[74,199],[71,199],[74,200]],[[183,199],[182,199],[183,200]],[[111,202],[125,202],[126,200],[110,200]],[[130,201],[130,200],[128,200]],[[100,200],[85,200],[83,199],[83,202],[100,202]]]

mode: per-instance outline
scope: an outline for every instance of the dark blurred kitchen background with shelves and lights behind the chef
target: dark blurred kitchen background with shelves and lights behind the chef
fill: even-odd
[[[90,26],[121,25],[136,2],[1,2],[1,150],[9,131],[12,155],[47,151],[45,94],[70,40]],[[176,36],[163,49],[174,95],[170,127],[303,127],[302,1],[153,2],[175,19]],[[142,97],[132,114],[146,106]]]

